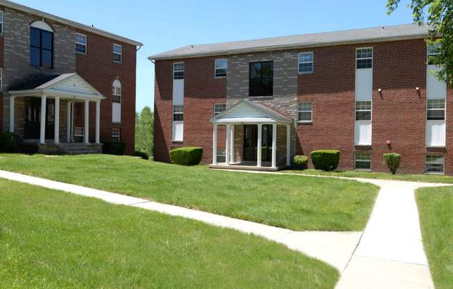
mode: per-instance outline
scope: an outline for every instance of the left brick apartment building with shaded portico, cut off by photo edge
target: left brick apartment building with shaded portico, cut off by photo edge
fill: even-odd
[[[133,154],[140,47],[1,0],[0,131],[36,151],[94,152],[120,141]]]

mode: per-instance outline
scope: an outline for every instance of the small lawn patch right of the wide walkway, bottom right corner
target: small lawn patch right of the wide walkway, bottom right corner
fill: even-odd
[[[436,289],[453,288],[453,187],[417,190],[423,245]]]

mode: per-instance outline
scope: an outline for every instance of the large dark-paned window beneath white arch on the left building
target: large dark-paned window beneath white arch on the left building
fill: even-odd
[[[30,28],[30,64],[53,67],[53,33],[39,28]]]

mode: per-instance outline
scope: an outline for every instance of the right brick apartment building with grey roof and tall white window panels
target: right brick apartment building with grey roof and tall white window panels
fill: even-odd
[[[295,154],[339,149],[340,169],[388,171],[382,155],[397,152],[400,172],[453,174],[452,89],[431,73],[427,30],[385,26],[151,56],[154,158],[201,146],[216,167],[276,170]]]

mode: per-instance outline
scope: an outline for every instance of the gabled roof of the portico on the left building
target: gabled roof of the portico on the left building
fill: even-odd
[[[19,85],[13,85],[9,94],[14,97],[61,97],[63,99],[101,100],[101,92],[85,81],[79,74],[68,73],[40,76],[28,79]]]

